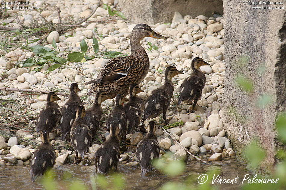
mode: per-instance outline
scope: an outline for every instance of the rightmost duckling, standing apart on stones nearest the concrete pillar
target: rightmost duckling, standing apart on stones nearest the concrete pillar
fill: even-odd
[[[187,112],[191,113],[194,112],[194,108],[197,104],[197,101],[202,96],[202,91],[204,89],[205,83],[206,83],[206,76],[204,73],[202,73],[200,67],[202,65],[210,65],[207,62],[205,62],[202,58],[195,57],[192,61],[192,74],[187,77],[182,85],[180,86],[180,97],[178,100],[178,104],[180,104],[182,101],[192,101],[194,100],[194,104],[192,106],[188,107]]]

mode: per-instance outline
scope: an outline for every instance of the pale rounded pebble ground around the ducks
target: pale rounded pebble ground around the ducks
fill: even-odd
[[[116,1],[110,2],[113,8]],[[22,25],[28,27],[39,18],[39,14],[47,22],[57,23],[58,13],[55,7],[61,8],[62,22],[73,17],[80,20],[80,17],[87,17],[97,0],[85,1],[30,1],[30,5],[39,6],[40,10],[34,11],[8,11],[10,16],[6,18],[6,26],[18,27]],[[94,59],[85,62],[67,62],[54,71],[48,71],[50,65],[32,65],[23,68],[23,62],[28,58],[34,58],[34,52],[20,48],[21,46],[3,48],[0,50],[0,87],[37,89],[56,92],[69,92],[71,83],[76,82],[82,91],[79,95],[85,107],[89,107],[93,97],[86,96],[91,85],[85,85],[86,82],[96,78],[98,71],[109,59],[104,59],[103,54],[95,55],[92,42],[93,36],[98,38],[100,53],[107,50],[113,50],[123,55],[130,54],[129,37],[135,26],[127,21],[117,17],[111,17],[108,11],[100,8],[80,27],[69,30],[59,35],[58,32],[50,32],[47,41],[42,44],[33,42],[27,46],[42,45],[51,49],[52,39],[54,38],[58,56],[67,59],[69,51],[80,51],[80,42],[85,40],[88,45],[87,56],[95,56]],[[120,10],[120,9],[118,9]],[[15,19],[16,14],[19,19]],[[80,17],[79,17],[80,16]],[[101,22],[99,22],[101,21]],[[191,18],[186,15],[182,17],[178,12],[175,13],[172,23],[157,23],[150,25],[160,35],[166,36],[166,40],[155,38],[145,38],[142,40],[142,46],[146,48],[150,59],[150,71],[140,84],[142,90],[139,95],[146,98],[152,89],[164,83],[164,70],[168,66],[175,66],[184,74],[173,78],[174,96],[172,98],[169,110],[167,110],[167,119],[171,119],[169,124],[174,128],[167,131],[172,133],[182,146],[199,158],[209,161],[220,161],[226,157],[235,156],[230,141],[226,137],[223,128],[222,117],[222,95],[224,87],[224,29],[223,17],[213,15],[207,18],[199,15]],[[4,36],[0,36],[3,40]],[[30,36],[28,40],[39,38]],[[14,37],[15,39],[15,37]],[[20,42],[26,43],[25,38],[20,38]],[[3,47],[3,46],[2,46]],[[152,48],[151,48],[152,47]],[[191,60],[194,57],[201,57],[208,62],[210,66],[202,66],[201,70],[206,74],[207,82],[204,87],[202,98],[198,101],[195,113],[186,114],[186,109],[190,106],[187,103],[177,105],[179,87],[183,80],[191,74]],[[35,70],[36,71],[33,71]],[[67,102],[68,98],[60,96],[57,101],[60,106]],[[30,156],[35,151],[36,146],[41,144],[39,134],[35,133],[36,117],[40,110],[45,107],[46,95],[28,94],[27,92],[0,92],[0,166],[23,165],[30,163]],[[102,118],[102,127],[98,134],[98,139],[104,141],[108,136],[105,130],[105,120],[110,109],[113,107],[113,101],[107,100],[103,103],[104,116]],[[15,118],[18,118],[15,119]],[[161,117],[155,118],[160,124]],[[19,121],[20,120],[20,121]],[[148,122],[148,121],[147,121]],[[147,124],[147,123],[146,123]],[[170,159],[187,159],[187,153],[175,141],[166,134],[161,127],[157,125],[156,134],[161,146],[161,154],[167,151],[173,153]],[[127,135],[127,141],[130,142],[128,150],[122,152],[120,161],[127,165],[137,165],[135,156],[135,146],[143,138],[143,134],[135,132]],[[70,143],[61,140],[59,130],[50,134],[52,146],[56,149],[58,158],[56,166],[71,163],[75,157],[74,151],[70,149]],[[84,161],[80,164],[86,164],[87,161],[93,161],[94,153],[99,147],[99,141],[94,142],[86,153]]]

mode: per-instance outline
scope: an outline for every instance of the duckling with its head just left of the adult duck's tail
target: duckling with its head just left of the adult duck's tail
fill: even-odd
[[[76,110],[79,106],[82,106],[82,101],[77,95],[79,92],[79,86],[77,83],[70,85],[70,99],[62,107],[62,116],[60,121],[60,129],[63,140],[67,134],[70,133],[70,127],[73,125],[74,119],[76,118]]]

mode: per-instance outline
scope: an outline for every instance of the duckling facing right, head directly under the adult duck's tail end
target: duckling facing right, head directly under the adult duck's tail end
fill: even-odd
[[[96,131],[99,127],[99,121],[102,114],[101,103],[107,99],[107,93],[99,91],[96,96],[92,107],[85,111],[84,120],[86,125],[92,132],[92,137],[94,137]]]

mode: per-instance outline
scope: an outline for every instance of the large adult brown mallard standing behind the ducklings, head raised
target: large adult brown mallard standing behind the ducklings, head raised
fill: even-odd
[[[140,45],[140,41],[148,36],[166,39],[154,32],[150,26],[137,24],[130,36],[131,55],[110,59],[99,72],[97,79],[87,83],[93,83],[87,94],[95,96],[101,90],[107,92],[110,99],[118,93],[127,95],[132,83],[139,84],[146,77],[149,69],[148,55]]]

